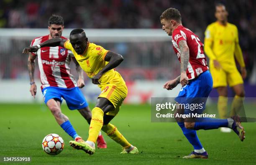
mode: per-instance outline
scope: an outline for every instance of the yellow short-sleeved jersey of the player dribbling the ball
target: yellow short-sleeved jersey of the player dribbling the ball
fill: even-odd
[[[73,52],[77,62],[89,78],[94,77],[108,64],[108,61],[105,61],[105,56],[108,53],[108,50],[94,43],[88,42],[82,55],[77,54],[69,40],[64,43],[64,48],[67,48]],[[115,71],[115,69],[110,69],[109,71],[105,72],[99,79],[99,83],[100,84],[98,84],[98,86],[100,88],[106,84],[114,84],[115,86],[125,85],[125,81],[123,80],[122,76]]]

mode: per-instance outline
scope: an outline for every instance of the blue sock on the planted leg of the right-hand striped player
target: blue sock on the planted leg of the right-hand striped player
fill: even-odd
[[[195,150],[202,149],[201,142],[199,141],[197,137],[197,132],[193,129],[187,129],[184,126],[184,122],[178,122],[179,127],[181,127],[183,134],[185,137],[187,137],[187,140],[190,142],[190,144],[193,145]]]

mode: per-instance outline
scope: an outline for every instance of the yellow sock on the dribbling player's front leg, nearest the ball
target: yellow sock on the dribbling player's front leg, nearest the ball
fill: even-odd
[[[96,142],[100,129],[103,125],[103,115],[104,112],[99,107],[92,109],[92,120],[89,129],[89,137],[87,140]]]

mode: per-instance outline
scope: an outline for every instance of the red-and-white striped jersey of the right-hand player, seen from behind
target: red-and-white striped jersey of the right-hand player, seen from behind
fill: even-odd
[[[179,42],[186,41],[189,47],[189,62],[187,65],[187,77],[195,79],[201,73],[208,70],[207,61],[204,55],[203,43],[191,30],[180,25],[172,32],[172,44],[180,62]]]

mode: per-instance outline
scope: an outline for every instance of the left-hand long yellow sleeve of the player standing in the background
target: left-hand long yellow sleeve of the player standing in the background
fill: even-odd
[[[212,51],[212,43],[213,43],[213,38],[214,38],[214,29],[212,26],[207,26],[205,30],[205,43],[204,43],[204,51],[206,55],[211,59],[215,60],[216,56]]]

